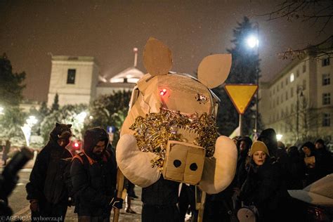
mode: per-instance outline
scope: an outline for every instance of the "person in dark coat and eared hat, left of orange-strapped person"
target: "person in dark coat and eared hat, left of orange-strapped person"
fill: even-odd
[[[45,147],[37,155],[27,183],[32,221],[64,221],[68,190],[61,159],[72,157],[66,146],[70,143],[71,124],[56,123]]]

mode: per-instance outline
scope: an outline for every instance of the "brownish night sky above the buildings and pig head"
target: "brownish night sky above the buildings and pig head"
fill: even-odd
[[[192,74],[202,58],[226,53],[233,28],[243,16],[259,22],[261,75],[272,79],[287,62],[277,53],[288,47],[316,44],[317,22],[258,16],[273,11],[278,1],[9,1],[0,0],[0,53],[15,72],[25,71],[24,96],[46,100],[52,55],[94,56],[105,76],[133,65],[145,72],[142,52],[149,37],[164,42],[173,53],[172,71]],[[332,23],[329,24],[332,27]]]

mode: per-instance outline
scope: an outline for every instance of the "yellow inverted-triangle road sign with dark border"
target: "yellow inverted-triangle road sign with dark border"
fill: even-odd
[[[255,84],[226,84],[224,89],[226,89],[237,112],[242,115],[247,110],[247,106],[252,100],[254,93],[256,93],[258,86]]]

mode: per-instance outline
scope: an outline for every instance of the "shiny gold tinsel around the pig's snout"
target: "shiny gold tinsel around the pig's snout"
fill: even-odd
[[[143,152],[154,152],[156,159],[152,159],[152,166],[162,169],[168,141],[184,141],[178,129],[195,133],[197,137],[192,142],[206,149],[206,156],[214,155],[215,142],[218,138],[216,119],[212,115],[204,114],[198,116],[183,115],[161,108],[159,113],[149,113],[143,117],[137,117],[136,122],[130,127],[134,131],[138,148]]]

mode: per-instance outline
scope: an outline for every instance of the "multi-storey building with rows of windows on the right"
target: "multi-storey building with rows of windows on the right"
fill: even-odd
[[[287,145],[315,138],[332,141],[332,58],[294,60],[275,79],[261,82],[259,112],[266,128]]]

